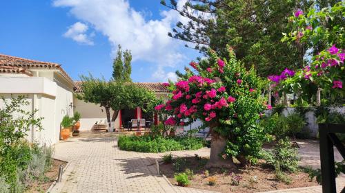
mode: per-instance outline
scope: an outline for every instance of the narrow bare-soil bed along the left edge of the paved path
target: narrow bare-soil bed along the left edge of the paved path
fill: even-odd
[[[36,181],[34,181],[32,186],[30,186],[30,188],[28,188],[26,192],[47,192],[47,190],[50,188],[50,185],[52,185],[52,183],[54,183],[57,179],[57,176],[59,174],[59,166],[63,165],[63,167],[65,167],[66,164],[67,163],[65,161],[52,159],[52,166],[47,172],[44,173],[43,179],[37,179]]]

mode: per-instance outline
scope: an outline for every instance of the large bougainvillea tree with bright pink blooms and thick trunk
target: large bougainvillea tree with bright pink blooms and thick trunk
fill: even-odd
[[[170,115],[166,125],[184,126],[201,120],[210,128],[211,150],[207,167],[243,166],[255,161],[266,135],[257,124],[266,109],[255,70],[246,71],[229,48],[229,60],[209,51],[208,59],[192,62],[179,81],[166,84],[172,98],[156,106]]]

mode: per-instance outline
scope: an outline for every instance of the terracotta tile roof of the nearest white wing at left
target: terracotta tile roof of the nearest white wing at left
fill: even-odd
[[[2,69],[0,73],[17,73],[17,71],[15,71],[14,69],[9,70],[11,67],[14,69],[17,68],[18,70],[20,69],[21,71],[23,71],[22,69],[24,69],[28,72],[30,72],[30,69],[58,69],[63,77],[65,77],[69,82],[74,84],[72,78],[70,78],[66,71],[62,69],[61,65],[57,63],[41,62],[37,60],[29,60],[26,58],[19,58],[16,56],[0,54],[0,69]],[[5,69],[7,69],[7,71]]]

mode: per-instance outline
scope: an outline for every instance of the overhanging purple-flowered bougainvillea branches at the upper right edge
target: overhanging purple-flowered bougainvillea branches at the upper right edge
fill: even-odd
[[[338,22],[343,18],[344,5],[342,1],[319,12],[313,8],[308,14],[297,10],[289,19],[293,31],[285,34],[282,41],[304,45],[314,52],[319,45],[324,45],[326,49],[313,56],[311,63],[303,69],[296,72],[286,69],[281,75],[269,76],[268,79],[284,91],[307,93],[313,89],[315,93],[317,88],[321,88],[331,95],[344,95],[345,31]]]

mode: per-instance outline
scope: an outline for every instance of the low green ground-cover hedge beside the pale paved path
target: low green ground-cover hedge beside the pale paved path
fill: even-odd
[[[189,144],[188,144],[189,143]],[[120,150],[136,152],[166,152],[175,150],[197,150],[205,144],[204,139],[196,137],[164,138],[152,136],[121,135],[117,144]]]

